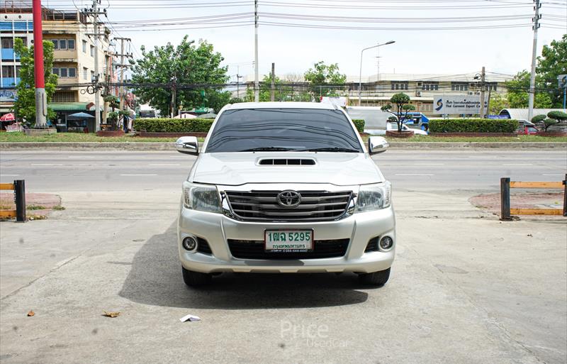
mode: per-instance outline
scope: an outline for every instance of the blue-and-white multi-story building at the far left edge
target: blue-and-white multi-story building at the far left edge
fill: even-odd
[[[16,98],[20,81],[20,58],[13,50],[16,38],[24,45],[33,44],[33,17],[29,12],[0,12],[0,115],[8,113]]]

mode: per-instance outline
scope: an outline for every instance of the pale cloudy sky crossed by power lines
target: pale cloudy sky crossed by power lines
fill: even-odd
[[[92,1],[42,4],[69,10],[91,6]],[[101,7],[111,27],[132,38],[135,57],[140,56],[141,45],[151,49],[177,44],[189,35],[214,45],[225,58],[232,81],[237,72],[248,77],[254,73],[253,0],[101,0]],[[540,12],[538,55],[543,45],[567,33],[567,1],[541,0]],[[376,75],[378,55],[382,73],[457,75],[480,72],[485,66],[487,72],[514,75],[531,65],[533,14],[532,0],[259,0],[259,73],[261,78],[268,74],[275,62],[277,75],[303,74],[322,60],[338,63],[342,73],[355,76],[363,48],[395,40],[364,51],[363,75]],[[221,18],[211,19],[215,16]],[[213,23],[194,23],[198,17]],[[175,25],[163,25],[164,19],[172,18]],[[182,18],[192,18],[193,23]],[[290,27],[296,24],[335,28]],[[510,25],[517,27],[462,29]]]

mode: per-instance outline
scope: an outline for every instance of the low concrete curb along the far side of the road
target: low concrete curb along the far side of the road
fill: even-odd
[[[199,143],[202,145],[202,143]],[[562,142],[390,142],[393,149],[567,149]],[[174,150],[174,143],[162,142],[21,142],[0,143],[0,150]]]

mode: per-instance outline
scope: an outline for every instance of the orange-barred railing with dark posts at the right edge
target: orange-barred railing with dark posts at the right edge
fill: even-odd
[[[567,175],[563,182],[520,182],[510,177],[500,178],[500,220],[511,221],[511,215],[558,215],[567,216]],[[563,189],[563,211],[560,209],[512,209],[510,188]]]

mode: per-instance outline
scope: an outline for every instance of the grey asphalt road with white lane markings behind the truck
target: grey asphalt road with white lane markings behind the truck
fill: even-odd
[[[172,152],[3,151],[0,182],[30,192],[179,189],[194,157]],[[558,181],[566,150],[388,150],[374,157],[400,191],[497,191],[500,177]]]

